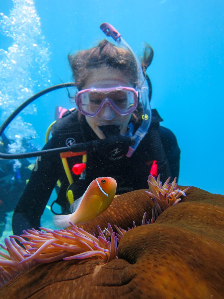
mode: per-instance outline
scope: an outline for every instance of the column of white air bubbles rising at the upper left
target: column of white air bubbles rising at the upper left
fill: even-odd
[[[13,0],[13,8],[9,15],[0,13],[0,31],[7,36],[7,39],[12,39],[7,50],[0,49],[2,77],[0,122],[2,123],[27,98],[43,89],[45,82],[50,83],[47,68],[50,51],[49,44],[45,42],[45,37],[41,33],[41,22],[34,1]],[[23,115],[35,113],[35,105],[29,105],[25,112],[22,111],[10,124],[6,131],[7,137],[14,140],[18,127],[22,138],[37,137],[32,124],[24,123],[22,118]],[[22,146],[18,151],[23,151]]]

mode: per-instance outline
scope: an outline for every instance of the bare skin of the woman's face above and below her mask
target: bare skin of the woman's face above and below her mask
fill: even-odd
[[[89,88],[111,88],[117,86],[133,87],[125,75],[117,71],[114,68],[99,68],[90,71],[89,77],[86,80],[83,89]],[[104,125],[117,125],[119,126],[120,133],[125,134],[128,129],[128,123],[131,118],[131,113],[128,115],[120,115],[118,112],[112,109],[109,104],[102,107],[100,112],[94,116],[85,116],[86,121],[96,135],[103,139],[104,133],[99,126]]]

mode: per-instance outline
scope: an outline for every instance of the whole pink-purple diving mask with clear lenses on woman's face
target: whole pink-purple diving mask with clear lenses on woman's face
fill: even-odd
[[[120,115],[128,115],[137,108],[138,91],[119,86],[83,89],[76,95],[76,106],[86,116],[96,116],[105,105],[110,105]]]

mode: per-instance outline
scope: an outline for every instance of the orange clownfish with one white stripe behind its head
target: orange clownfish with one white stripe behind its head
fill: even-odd
[[[83,196],[70,205],[72,214],[53,216],[54,225],[57,228],[65,228],[70,225],[69,222],[82,224],[95,218],[111,205],[116,187],[117,182],[111,177],[95,179]]]

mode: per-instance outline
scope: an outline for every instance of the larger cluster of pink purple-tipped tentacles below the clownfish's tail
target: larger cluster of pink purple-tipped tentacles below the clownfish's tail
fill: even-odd
[[[32,228],[23,231],[20,237],[10,236],[10,240],[6,238],[5,246],[1,245],[1,248],[8,254],[0,252],[0,285],[39,263],[90,257],[101,257],[109,262],[117,258],[117,236],[110,224],[107,228],[109,238],[105,237],[99,226],[99,237],[96,238],[94,233],[89,234],[71,222],[70,225],[71,229],[67,230],[40,228],[39,231]]]

